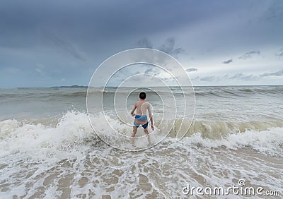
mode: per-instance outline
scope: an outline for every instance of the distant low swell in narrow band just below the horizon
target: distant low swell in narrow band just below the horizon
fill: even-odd
[[[170,87],[175,95],[183,94],[178,87]],[[120,94],[128,94],[133,88],[120,88]],[[152,88],[154,90],[145,89],[148,95],[158,93],[168,93],[171,91],[164,88]],[[134,90],[134,94],[138,94],[142,89]],[[19,98],[19,97],[86,97],[87,88],[25,88],[21,92],[0,93],[0,97]],[[143,90],[144,91],[144,90]],[[88,90],[91,95],[115,94],[117,88],[90,88]],[[283,86],[219,86],[219,87],[195,87],[195,95],[199,97],[241,97],[250,95],[283,95]]]

